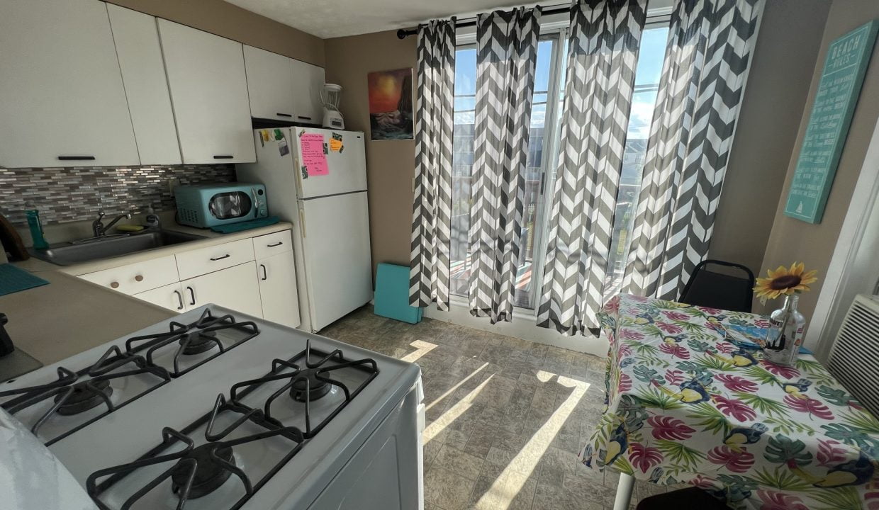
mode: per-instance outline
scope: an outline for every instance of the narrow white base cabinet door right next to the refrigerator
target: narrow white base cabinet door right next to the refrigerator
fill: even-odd
[[[257,275],[265,320],[299,327],[299,298],[296,294],[293,252],[258,260]]]

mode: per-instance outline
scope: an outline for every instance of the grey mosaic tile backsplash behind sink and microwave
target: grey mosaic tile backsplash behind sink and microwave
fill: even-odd
[[[172,211],[168,181],[181,184],[235,181],[234,165],[172,167],[72,167],[54,169],[0,168],[0,213],[24,225],[25,210],[40,210],[46,225],[94,219],[98,209],[108,216],[122,212]]]

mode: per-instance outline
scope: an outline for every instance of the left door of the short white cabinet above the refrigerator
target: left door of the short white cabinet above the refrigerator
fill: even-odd
[[[290,59],[258,47],[244,45],[247,91],[251,117],[293,121],[294,84]]]

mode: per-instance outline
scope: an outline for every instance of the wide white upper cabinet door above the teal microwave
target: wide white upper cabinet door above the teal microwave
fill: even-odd
[[[165,19],[158,26],[183,162],[255,162],[241,43]]]

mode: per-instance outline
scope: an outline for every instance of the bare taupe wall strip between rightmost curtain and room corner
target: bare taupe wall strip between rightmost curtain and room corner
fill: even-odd
[[[766,3],[708,258],[760,270],[829,8]]]

